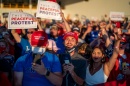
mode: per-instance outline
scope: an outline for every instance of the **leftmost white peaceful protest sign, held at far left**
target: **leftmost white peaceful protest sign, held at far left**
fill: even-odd
[[[8,15],[9,29],[30,29],[37,28],[37,22],[33,21],[34,16],[24,12],[10,12]]]

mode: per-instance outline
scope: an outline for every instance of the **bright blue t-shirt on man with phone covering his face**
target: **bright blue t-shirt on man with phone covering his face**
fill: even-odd
[[[45,52],[42,61],[50,72],[61,72],[59,58],[51,53]],[[54,86],[45,76],[38,74],[32,69],[32,53],[18,58],[14,65],[14,71],[23,72],[22,86]]]

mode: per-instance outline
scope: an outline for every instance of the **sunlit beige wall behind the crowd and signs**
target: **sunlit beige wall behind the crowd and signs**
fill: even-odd
[[[61,0],[61,4],[64,5],[63,12],[65,17],[70,14],[73,19],[75,14],[79,15],[79,19],[82,15],[91,19],[92,17],[97,19],[102,19],[104,15],[108,15],[111,11],[115,12],[125,12],[125,16],[130,19],[130,0],[81,0],[75,2],[71,0],[72,3],[69,4],[70,0]],[[75,3],[73,3],[75,2]],[[0,8],[0,15],[3,12],[16,11],[19,8]],[[36,9],[23,9],[24,12],[34,14]]]

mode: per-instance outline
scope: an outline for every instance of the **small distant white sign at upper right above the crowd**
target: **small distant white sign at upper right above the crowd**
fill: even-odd
[[[124,12],[110,12],[110,19],[113,21],[123,21]]]

